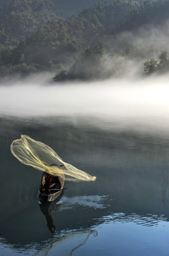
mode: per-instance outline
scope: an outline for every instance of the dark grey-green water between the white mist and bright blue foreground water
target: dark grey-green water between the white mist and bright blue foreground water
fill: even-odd
[[[126,130],[104,131],[87,125],[78,127],[71,122],[60,122],[52,126],[48,122],[49,119],[42,124],[12,119],[1,121],[1,180],[8,181],[11,190],[8,190],[5,182],[1,183],[3,193],[0,236],[4,237],[1,243],[11,247],[13,252],[30,252],[33,246],[38,250],[47,242],[51,243],[51,240],[56,235],[60,236],[64,230],[87,230],[107,221],[153,226],[169,220],[169,141],[165,139],[165,134],[154,136]],[[95,183],[77,183],[76,186],[69,183],[69,189],[64,197],[67,198],[67,203],[60,206],[55,203],[54,208],[50,208],[46,215],[41,213],[36,202],[41,174],[28,169],[27,166],[23,169],[23,166],[11,157],[9,151],[8,142],[20,136],[23,131],[25,134],[35,134],[35,138],[39,140],[45,138],[45,142],[53,148],[57,145],[60,154],[66,154],[66,157],[68,156],[77,166],[84,166],[85,170],[97,174]],[[79,201],[84,195],[87,198],[90,198],[90,195],[108,195],[110,200],[106,203],[104,201],[105,207],[102,208],[95,209],[82,204],[73,208],[70,198],[77,195]],[[15,206],[13,202],[16,202]],[[83,218],[84,210],[86,218]],[[52,219],[56,230],[49,233],[48,228],[52,228]]]

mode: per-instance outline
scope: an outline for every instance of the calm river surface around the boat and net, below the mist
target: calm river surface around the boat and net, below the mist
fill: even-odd
[[[62,90],[48,89],[52,99]],[[55,114],[56,106],[50,102],[51,115],[49,108],[42,116],[37,105],[30,114],[32,105],[24,116],[24,100],[19,104],[16,100],[16,110],[7,100],[6,109],[4,97],[9,88],[0,91],[4,101],[0,110],[0,255],[169,255],[169,107],[165,93],[161,92],[158,107],[147,94],[151,102],[140,99],[138,88],[134,101],[133,96],[126,101],[124,95],[120,98],[122,88],[116,97],[118,104],[113,101],[113,90],[112,99],[107,95],[108,103],[107,91],[98,91],[98,98],[90,97],[89,103],[83,100],[83,108],[81,100],[74,97],[69,102],[67,95],[64,112],[58,112],[63,102],[62,106],[57,102]],[[38,97],[45,97],[44,92]],[[97,102],[98,109],[92,108]],[[59,201],[40,204],[37,190],[42,173],[21,164],[10,151],[11,142],[21,134],[49,145],[64,161],[96,176],[96,181],[66,182]]]

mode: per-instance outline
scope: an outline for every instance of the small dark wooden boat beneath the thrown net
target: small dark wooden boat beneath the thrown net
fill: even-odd
[[[45,184],[45,172],[42,174],[42,180],[40,184],[40,188],[38,190],[38,196],[40,201],[42,202],[52,202],[55,199],[59,198],[62,191],[64,190],[64,174],[60,176],[53,176],[52,183],[49,186],[49,190],[47,191],[44,188]]]

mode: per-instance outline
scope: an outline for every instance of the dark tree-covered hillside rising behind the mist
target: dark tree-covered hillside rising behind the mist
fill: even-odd
[[[102,1],[70,16],[95,2],[0,0],[1,75],[51,70],[57,73],[54,80],[106,78],[116,71],[106,72],[105,57],[148,54],[144,43],[134,46],[131,37],[120,35],[138,36],[141,28],[163,26],[169,18],[168,0]]]

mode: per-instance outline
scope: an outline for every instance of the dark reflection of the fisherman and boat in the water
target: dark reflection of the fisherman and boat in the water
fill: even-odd
[[[49,210],[51,203],[52,202],[41,203],[40,210],[45,215],[45,218],[47,220],[47,227],[49,228],[50,232],[54,233],[54,230],[56,230],[56,227],[55,227],[54,221],[52,219],[51,210]]]

